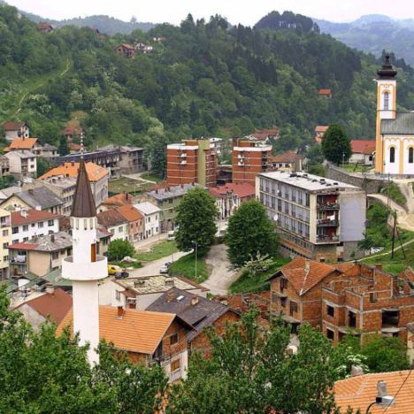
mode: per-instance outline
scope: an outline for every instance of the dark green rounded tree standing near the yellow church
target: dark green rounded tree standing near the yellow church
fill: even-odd
[[[328,161],[339,165],[352,155],[350,141],[341,126],[331,125],[322,139],[322,152]]]

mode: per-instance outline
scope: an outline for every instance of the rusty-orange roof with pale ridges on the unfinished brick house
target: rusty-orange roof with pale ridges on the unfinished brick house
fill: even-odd
[[[292,283],[298,295],[304,295],[335,270],[337,269],[332,265],[305,259],[302,256],[295,257],[288,265],[284,265],[280,269]]]

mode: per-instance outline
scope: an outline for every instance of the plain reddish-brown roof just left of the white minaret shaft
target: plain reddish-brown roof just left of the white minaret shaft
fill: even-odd
[[[57,288],[53,294],[45,293],[42,296],[38,296],[31,301],[27,301],[19,305],[27,305],[34,309],[42,317],[50,317],[50,320],[56,324],[60,324],[63,318],[67,315],[67,312],[72,309],[72,296],[68,295],[65,290]]]

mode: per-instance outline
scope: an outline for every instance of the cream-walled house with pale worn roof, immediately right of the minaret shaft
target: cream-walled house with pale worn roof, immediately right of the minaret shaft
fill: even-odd
[[[99,287],[99,303],[144,311],[171,288],[186,290],[203,297],[206,297],[209,292],[208,288],[204,288],[193,280],[157,274],[155,276],[111,280],[104,283]]]

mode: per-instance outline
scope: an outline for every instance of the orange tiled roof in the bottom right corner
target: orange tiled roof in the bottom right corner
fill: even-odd
[[[387,382],[387,395],[395,396],[395,404],[387,407],[373,405],[371,414],[409,414],[414,408],[414,374],[410,371],[380,372],[340,380],[335,383],[335,402],[344,413],[348,407],[365,412],[377,396],[377,382]],[[405,381],[405,382],[404,382]],[[401,387],[401,389],[400,389]],[[398,395],[397,395],[398,393]]]

